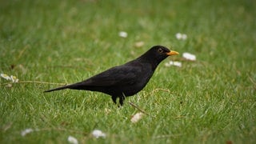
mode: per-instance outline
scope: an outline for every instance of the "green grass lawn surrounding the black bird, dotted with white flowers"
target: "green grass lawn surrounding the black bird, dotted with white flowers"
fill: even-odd
[[[72,83],[163,45],[196,62],[166,67],[125,106],[106,94],[1,78],[0,143],[254,143],[256,3],[0,1],[0,72],[20,82]],[[120,38],[119,31],[127,38]],[[187,34],[185,41],[176,33]],[[135,42],[144,46],[135,47]],[[9,87],[8,87],[9,86]],[[146,110],[139,122],[130,118]],[[25,136],[22,130],[36,130]],[[106,138],[94,138],[94,129]]]

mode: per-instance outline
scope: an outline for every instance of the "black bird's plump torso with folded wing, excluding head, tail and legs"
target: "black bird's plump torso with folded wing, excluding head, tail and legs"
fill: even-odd
[[[131,96],[142,90],[149,82],[154,70],[147,63],[128,62],[115,66],[70,89],[100,91],[114,96]]]

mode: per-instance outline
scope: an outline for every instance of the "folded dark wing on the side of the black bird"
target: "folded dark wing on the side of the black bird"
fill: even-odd
[[[81,82],[83,86],[117,86],[133,84],[142,73],[141,66],[115,66]]]

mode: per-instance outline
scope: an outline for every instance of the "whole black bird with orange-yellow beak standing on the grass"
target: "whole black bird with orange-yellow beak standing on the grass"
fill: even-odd
[[[146,86],[162,60],[176,54],[178,52],[171,51],[165,46],[153,46],[145,54],[122,66],[114,66],[82,82],[44,92],[63,89],[98,91],[109,94],[114,103],[117,103],[119,98],[122,106],[126,97],[137,94]]]

